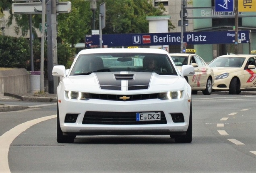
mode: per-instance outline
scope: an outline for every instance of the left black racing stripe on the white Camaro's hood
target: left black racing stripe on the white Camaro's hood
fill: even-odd
[[[120,73],[118,73],[120,74]],[[107,90],[122,90],[121,80],[116,80],[111,72],[98,72],[97,76],[99,87]]]

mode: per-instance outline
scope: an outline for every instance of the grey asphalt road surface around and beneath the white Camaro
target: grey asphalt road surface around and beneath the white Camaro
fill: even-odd
[[[0,113],[0,172],[255,173],[255,99],[193,95],[189,144],[148,135],[86,136],[59,144],[56,103],[27,102],[29,109]]]

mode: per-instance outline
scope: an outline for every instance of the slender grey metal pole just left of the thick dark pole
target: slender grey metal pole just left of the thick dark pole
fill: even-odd
[[[40,59],[40,91],[44,91],[44,75],[43,75],[43,62],[44,62],[44,30],[45,30],[45,0],[42,1],[42,32],[41,32],[41,59]]]

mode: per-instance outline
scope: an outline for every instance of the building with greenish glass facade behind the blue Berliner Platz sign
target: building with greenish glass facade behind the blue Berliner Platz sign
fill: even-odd
[[[171,16],[171,22],[175,26],[175,29],[169,30],[169,32],[181,32],[181,27],[178,26],[178,20],[181,20],[180,11],[182,1],[183,0],[154,0],[153,2],[154,6],[163,3],[166,9],[165,14]],[[235,0],[230,1],[235,2]],[[225,1],[223,1],[223,3],[225,3]],[[216,12],[215,0],[187,0],[186,10],[188,12],[188,26],[185,27],[186,32],[234,30],[235,12]],[[251,31],[250,43],[237,43],[238,54],[250,54],[250,50],[256,50],[256,12],[239,12],[238,30]],[[235,53],[235,43],[195,44],[187,45],[187,47],[196,49],[196,54],[204,58],[206,62],[223,54]],[[180,52],[180,46],[169,46],[169,52]]]

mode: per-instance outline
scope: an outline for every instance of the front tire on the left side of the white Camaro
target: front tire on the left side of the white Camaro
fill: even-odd
[[[65,136],[60,128],[59,105],[57,104],[57,142],[73,143],[76,136]]]

